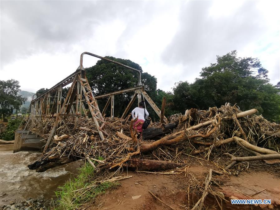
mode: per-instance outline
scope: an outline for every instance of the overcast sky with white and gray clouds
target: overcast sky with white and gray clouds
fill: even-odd
[[[216,55],[257,57],[280,81],[279,1],[1,1],[0,80],[50,88],[84,51],[130,59],[171,91]],[[97,59],[84,56],[84,67]]]

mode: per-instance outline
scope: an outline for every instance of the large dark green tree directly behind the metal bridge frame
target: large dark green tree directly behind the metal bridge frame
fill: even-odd
[[[107,56],[107,58],[128,65],[142,72],[141,79],[142,83],[145,86],[146,92],[152,99],[156,97],[157,79],[148,73],[143,73],[142,68],[139,64],[136,64],[131,60],[124,60],[120,58],[114,58],[111,56]],[[98,60],[96,65],[90,68],[86,68],[85,70],[87,73],[89,84],[92,87],[93,93],[95,95],[101,95],[126,88],[131,88],[136,86],[138,83],[138,72],[111,63],[107,60]],[[115,95],[114,116],[120,117],[122,115],[133,94],[133,92],[129,92]],[[108,98],[98,99],[98,105],[101,110],[105,106],[107,99]],[[136,101],[137,100],[135,100],[133,108],[137,106]],[[151,107],[147,105],[147,109],[151,110]],[[154,112],[152,110],[150,111],[150,113],[152,117],[155,117]],[[108,108],[106,114],[107,116],[110,116],[110,108]]]

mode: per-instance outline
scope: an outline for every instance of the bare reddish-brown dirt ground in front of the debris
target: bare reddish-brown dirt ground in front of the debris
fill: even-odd
[[[202,165],[189,168],[194,177],[204,177],[208,173],[208,168]],[[181,206],[188,205],[187,181],[188,178],[182,175],[158,175],[129,172],[133,175],[130,179],[121,180],[121,187],[115,191],[108,192],[98,198],[98,206],[91,206],[89,209],[170,209],[164,204],[155,200],[148,192],[150,190],[165,203],[174,209],[185,209]],[[216,175],[215,175],[216,176]],[[189,177],[190,178],[190,177]],[[280,209],[280,179],[273,174],[258,171],[243,173],[239,176],[225,176],[220,187],[213,186],[216,192],[222,192],[225,199],[271,199],[270,206],[251,205],[231,205],[230,202],[218,199],[222,209]],[[260,193],[260,190],[264,191]],[[255,195],[250,196],[251,194]],[[249,196],[249,197],[248,197]],[[200,197],[196,193],[190,193],[190,207],[196,203]],[[221,209],[216,198],[208,196],[205,200],[207,209]],[[180,206],[181,205],[181,206]]]

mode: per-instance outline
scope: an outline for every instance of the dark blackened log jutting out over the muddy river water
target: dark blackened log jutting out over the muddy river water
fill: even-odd
[[[47,158],[45,160],[37,160],[33,164],[28,165],[28,168],[31,170],[36,170],[36,172],[45,172],[48,169],[65,165],[67,163],[74,162],[80,158],[77,157],[77,159],[68,159],[67,156],[59,157],[59,156],[53,156],[50,158]]]

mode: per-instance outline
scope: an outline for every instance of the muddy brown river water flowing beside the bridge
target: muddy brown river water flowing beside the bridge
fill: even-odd
[[[45,199],[55,196],[59,185],[77,174],[77,168],[83,164],[76,161],[67,165],[49,169],[42,173],[28,169],[41,153],[20,151],[13,153],[13,144],[0,145],[0,203],[28,198],[38,198],[43,194]]]

